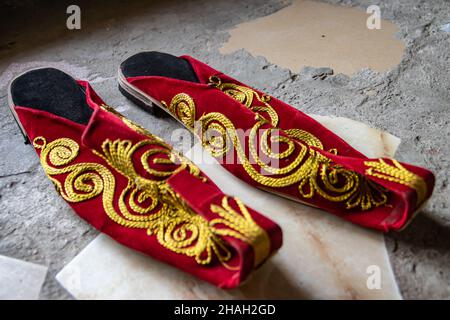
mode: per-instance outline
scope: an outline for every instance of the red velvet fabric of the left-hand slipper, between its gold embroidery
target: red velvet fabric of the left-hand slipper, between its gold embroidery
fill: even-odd
[[[128,179],[118,173],[93,151],[101,152],[102,143],[106,139],[111,141],[122,139],[137,143],[145,140],[147,137],[131,129],[116,115],[100,108],[99,106],[103,104],[103,101],[87,82],[79,81],[79,84],[86,89],[87,102],[94,109],[87,126],[26,106],[16,106],[15,110],[30,141],[33,141],[36,137],[45,137],[48,144],[56,139],[70,138],[80,146],[78,156],[70,165],[89,162],[98,163],[108,168],[115,178],[114,208],[116,212],[120,212],[117,199],[122,190],[127,187]],[[151,148],[160,148],[160,146],[149,145],[145,150]],[[41,153],[39,148],[36,151],[38,154]],[[140,175],[149,178],[149,174],[143,169],[138,160],[141,154],[142,151],[134,159],[133,165]],[[174,164],[173,166],[173,169],[176,169],[177,165]],[[164,169],[167,170],[167,165],[165,165]],[[52,178],[64,183],[67,174],[54,175]],[[211,211],[211,205],[220,205],[221,199],[225,195],[210,179],[202,181],[198,177],[193,176],[188,170],[181,170],[170,176],[167,181],[175,193],[179,194],[196,214],[203,216],[208,221],[218,217],[217,213]],[[114,222],[105,212],[101,194],[86,201],[69,202],[69,205],[81,218],[123,245],[171,264],[216,286],[222,288],[236,287],[254,269],[253,248],[248,243],[236,238],[221,236],[232,252],[232,258],[227,261],[227,265],[237,267],[236,269],[231,270],[227,268],[214,257],[210,264],[200,265],[195,261],[194,257],[175,253],[165,248],[158,242],[157,236],[148,235],[146,229],[124,227]],[[230,200],[230,205],[235,210],[238,209],[234,200]],[[282,244],[281,229],[273,221],[263,217],[258,212],[251,208],[247,209],[253,220],[268,234],[270,238],[270,254],[273,254]]]

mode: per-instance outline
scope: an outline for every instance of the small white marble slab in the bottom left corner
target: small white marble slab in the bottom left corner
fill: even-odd
[[[0,300],[36,300],[47,267],[0,256]]]

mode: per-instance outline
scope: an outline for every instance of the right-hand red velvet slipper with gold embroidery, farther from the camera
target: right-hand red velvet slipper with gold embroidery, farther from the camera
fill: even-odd
[[[403,228],[431,196],[430,171],[368,159],[304,113],[191,57],[138,53],[118,79],[125,96],[174,116],[255,187],[382,231]]]

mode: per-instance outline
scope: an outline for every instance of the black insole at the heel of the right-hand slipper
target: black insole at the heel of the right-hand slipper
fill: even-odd
[[[125,77],[161,76],[199,82],[188,61],[157,51],[137,53],[123,61],[120,69]]]

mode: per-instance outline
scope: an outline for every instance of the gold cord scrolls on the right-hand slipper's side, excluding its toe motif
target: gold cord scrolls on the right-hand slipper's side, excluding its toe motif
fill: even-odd
[[[224,90],[228,88],[224,87],[220,79],[213,79],[213,81],[216,86],[222,86]],[[246,90],[228,94],[238,96],[238,99],[248,105],[251,104],[250,99],[253,99],[253,93]],[[190,110],[195,110],[193,99],[187,94],[182,95],[185,101],[189,101]],[[171,105],[175,106],[174,101],[178,99],[172,99]],[[384,188],[367,181],[354,171],[333,164],[330,159],[309,148],[308,146],[313,146],[323,149],[322,143],[314,135],[300,129],[291,129],[290,136],[300,142],[296,144],[290,137],[276,134],[279,129],[261,129],[268,120],[259,113],[256,114],[255,120],[256,123],[248,139],[249,157],[246,156],[233,123],[222,113],[211,112],[202,115],[198,119],[200,125],[195,128],[194,133],[200,137],[203,147],[214,157],[222,157],[231,149],[236,150],[239,163],[247,174],[263,186],[282,188],[298,184],[298,191],[302,198],[310,199],[318,194],[328,201],[345,202],[346,209],[360,207],[362,210],[369,210],[386,204],[388,197]],[[260,129],[263,133],[258,146],[255,141]],[[286,148],[283,152],[275,153],[270,148],[269,141],[285,144]],[[292,159],[284,167],[273,167],[267,164],[267,161],[261,160],[260,152],[272,159],[282,160],[289,157]],[[254,164],[259,167],[259,170],[254,167]],[[270,175],[261,172],[267,172]]]

